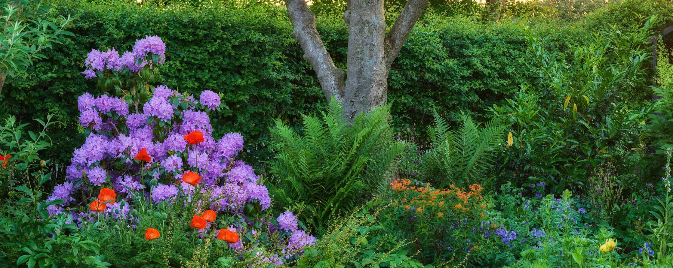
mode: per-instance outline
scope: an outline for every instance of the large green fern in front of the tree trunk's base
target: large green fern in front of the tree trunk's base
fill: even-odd
[[[305,202],[313,214],[302,217],[317,228],[332,213],[351,210],[376,191],[405,146],[392,138],[389,105],[352,123],[343,115],[343,107],[332,98],[321,118],[302,116],[302,132],[280,121],[271,129],[277,155],[268,162],[275,177],[269,187],[285,205]]]

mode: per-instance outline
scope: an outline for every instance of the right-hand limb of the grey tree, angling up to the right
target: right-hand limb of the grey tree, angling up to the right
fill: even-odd
[[[392,64],[393,60],[397,57],[397,54],[402,49],[404,40],[411,33],[411,29],[414,28],[416,21],[423,13],[423,10],[427,6],[429,0],[409,0],[406,1],[404,9],[395,20],[395,24],[390,28],[390,32],[386,36],[386,63],[388,63],[388,68]]]

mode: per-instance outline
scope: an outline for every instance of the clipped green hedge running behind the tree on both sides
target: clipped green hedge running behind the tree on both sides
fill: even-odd
[[[75,17],[66,38],[46,52],[28,73],[5,85],[0,116],[15,114],[23,122],[56,114],[65,126],[52,130],[52,159],[65,161],[83,142],[77,131],[77,97],[100,94],[94,81],[83,78],[83,59],[92,48],[129,50],[144,36],[160,36],[167,44],[160,83],[199,95],[205,89],[223,93],[230,107],[213,115],[215,135],[240,132],[248,143],[248,161],[271,157],[269,126],[280,118],[299,126],[299,114],[314,114],[326,105],[315,73],[302,59],[291,37],[285,12],[269,5],[214,3],[199,7],[135,5],[125,1],[51,0],[53,15]],[[642,8],[641,3],[651,3]],[[592,21],[483,21],[470,17],[428,14],[419,21],[392,66],[388,99],[398,126],[431,123],[432,109],[458,119],[461,109],[486,114],[485,107],[511,97],[522,83],[535,83],[526,66],[526,46],[519,28],[534,24],[551,34],[551,46],[588,40],[614,19],[631,29],[629,13],[670,12],[670,1],[623,1],[597,11]],[[615,17],[614,14],[619,14]],[[667,20],[668,19],[668,20]],[[670,15],[658,28],[670,24]],[[532,21],[532,22],[531,22]],[[345,67],[347,27],[340,17],[318,17],[318,31],[337,66]],[[159,83],[157,83],[159,84]],[[633,99],[647,96],[647,85]],[[481,116],[484,119],[484,116]],[[252,158],[252,159],[250,159]],[[258,161],[253,161],[257,159]]]

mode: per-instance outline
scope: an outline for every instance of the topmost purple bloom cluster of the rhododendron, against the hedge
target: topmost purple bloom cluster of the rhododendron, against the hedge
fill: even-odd
[[[86,79],[94,79],[98,77],[96,71],[104,73],[106,70],[120,71],[128,68],[132,72],[137,72],[147,64],[147,60],[145,59],[147,53],[159,55],[157,63],[162,64],[166,60],[165,52],[166,44],[158,36],[145,36],[141,40],[136,40],[133,51],[124,52],[122,56],[119,56],[119,52],[114,50],[114,48],[106,52],[92,49],[84,61],[87,69],[82,73]]]

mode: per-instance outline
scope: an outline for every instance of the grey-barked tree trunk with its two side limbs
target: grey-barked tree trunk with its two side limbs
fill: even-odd
[[[349,30],[347,73],[336,68],[325,49],[316,15],[305,0],[285,0],[293,26],[292,36],[304,49],[304,59],[316,71],[322,93],[334,95],[344,106],[346,117],[388,102],[388,71],[404,40],[418,21],[429,0],[409,0],[386,35],[384,0],[348,0],[343,19]]]

